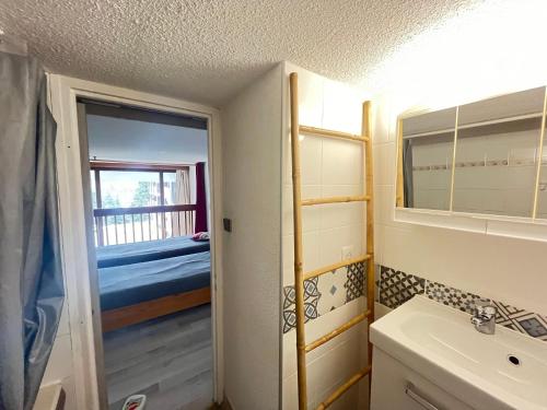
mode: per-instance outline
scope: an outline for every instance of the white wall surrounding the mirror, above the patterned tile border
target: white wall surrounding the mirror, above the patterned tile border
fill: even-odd
[[[485,2],[407,43],[371,79],[383,84],[373,98],[377,262],[547,313],[544,243],[393,221],[396,116],[546,84],[546,15],[545,1]]]

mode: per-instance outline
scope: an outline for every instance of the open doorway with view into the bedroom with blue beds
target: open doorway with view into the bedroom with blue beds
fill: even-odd
[[[208,122],[90,98],[78,99],[78,120],[107,406],[146,395],[147,409],[207,409],[214,358]]]

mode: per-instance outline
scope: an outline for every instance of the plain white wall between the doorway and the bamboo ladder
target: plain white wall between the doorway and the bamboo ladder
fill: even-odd
[[[225,395],[234,410],[279,408],[281,67],[221,110]]]

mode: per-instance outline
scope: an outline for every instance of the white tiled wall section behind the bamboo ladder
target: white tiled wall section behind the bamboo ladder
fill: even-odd
[[[286,63],[283,78],[283,286],[294,283],[292,179],[290,150],[289,74],[299,74],[300,124],[339,131],[361,133],[363,96],[344,84]],[[300,136],[302,198],[362,195],[362,151],[354,142]],[[362,203],[309,207],[302,210],[304,272],[338,262],[342,247],[350,246],[353,257],[365,249],[364,208]],[[318,318],[306,324],[306,342],[328,333],[364,308],[364,298],[346,303],[346,270],[318,279]],[[334,288],[333,288],[334,286]],[[331,311],[331,308],[334,308]],[[309,406],[315,408],[336,387],[365,363],[365,325],[356,326],[306,355]],[[361,348],[364,349],[361,349]],[[282,409],[298,409],[296,351],[294,329],[283,335]],[[368,402],[366,379],[346,393],[334,409],[358,408]]]

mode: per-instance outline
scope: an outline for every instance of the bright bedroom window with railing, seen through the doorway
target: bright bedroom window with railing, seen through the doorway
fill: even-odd
[[[92,160],[90,167],[97,246],[194,233],[189,165]]]

